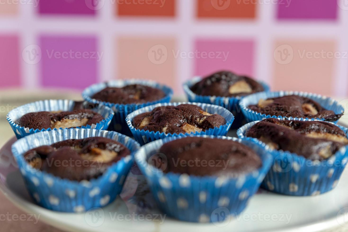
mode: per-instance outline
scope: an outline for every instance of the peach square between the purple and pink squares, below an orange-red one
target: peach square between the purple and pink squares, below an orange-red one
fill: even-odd
[[[178,91],[174,38],[121,37],[116,39],[116,79],[153,80]]]

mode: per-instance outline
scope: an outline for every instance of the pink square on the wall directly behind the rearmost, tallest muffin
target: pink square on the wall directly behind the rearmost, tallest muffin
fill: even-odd
[[[249,76],[254,74],[255,45],[252,40],[198,39],[195,47],[194,75],[205,76],[222,70]]]

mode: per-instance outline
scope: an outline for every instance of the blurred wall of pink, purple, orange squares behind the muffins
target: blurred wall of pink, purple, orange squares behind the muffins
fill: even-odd
[[[111,79],[155,80],[181,96],[193,76],[231,70],[343,99],[347,29],[347,0],[0,0],[0,144],[16,106],[81,99]]]

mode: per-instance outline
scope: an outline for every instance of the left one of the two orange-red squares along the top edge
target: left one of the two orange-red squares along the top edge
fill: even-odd
[[[175,15],[175,0],[116,0],[119,16]]]

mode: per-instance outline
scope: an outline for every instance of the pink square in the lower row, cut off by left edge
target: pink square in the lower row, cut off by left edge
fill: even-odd
[[[21,85],[19,51],[16,35],[0,35],[0,87],[18,87]]]

